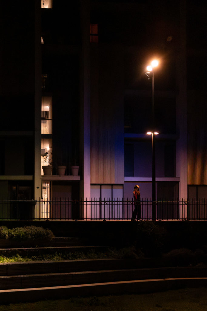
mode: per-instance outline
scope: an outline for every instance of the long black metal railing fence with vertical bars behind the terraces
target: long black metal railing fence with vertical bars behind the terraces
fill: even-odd
[[[152,200],[142,199],[141,220],[152,220]],[[158,200],[156,220],[207,220],[207,199]],[[0,199],[0,220],[131,220],[133,199]]]

